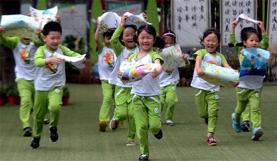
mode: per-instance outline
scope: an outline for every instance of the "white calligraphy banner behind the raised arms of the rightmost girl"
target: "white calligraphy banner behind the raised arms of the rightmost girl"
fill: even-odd
[[[256,0],[222,0],[221,5],[221,34],[222,45],[228,46],[232,22],[241,14],[256,20]],[[240,32],[245,27],[254,27],[253,23],[242,20],[235,28],[236,40],[240,41]]]

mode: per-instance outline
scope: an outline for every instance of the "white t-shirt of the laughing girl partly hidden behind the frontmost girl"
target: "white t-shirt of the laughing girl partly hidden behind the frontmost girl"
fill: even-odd
[[[123,84],[122,81],[117,77],[117,73],[119,71],[119,67],[121,65],[122,62],[127,62],[128,58],[134,54],[134,53],[138,53],[140,51],[140,49],[138,49],[137,47],[134,50],[128,50],[127,48],[125,48],[122,53],[116,58],[116,62],[115,62],[115,67],[111,73],[111,75],[109,76],[109,83],[110,84],[115,84],[117,86],[120,87],[132,87],[131,83],[128,84]]]

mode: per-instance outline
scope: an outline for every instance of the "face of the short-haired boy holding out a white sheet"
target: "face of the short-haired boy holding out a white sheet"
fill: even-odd
[[[48,35],[43,36],[43,41],[46,43],[47,49],[54,51],[60,44],[61,34],[58,31],[50,31]]]

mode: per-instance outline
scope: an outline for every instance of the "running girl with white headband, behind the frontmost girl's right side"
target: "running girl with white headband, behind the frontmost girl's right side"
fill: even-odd
[[[165,41],[165,48],[174,46],[176,44],[176,35],[174,32],[170,30],[164,32],[162,38]],[[185,68],[189,67],[190,62],[188,61],[187,57],[184,54],[182,54],[182,58],[185,60],[186,63]],[[160,87],[163,92],[160,96],[162,109],[163,105],[166,104],[166,125],[173,126],[174,107],[178,102],[176,84],[178,84],[178,81],[180,79],[178,67],[176,67],[172,71],[162,71],[158,78]]]

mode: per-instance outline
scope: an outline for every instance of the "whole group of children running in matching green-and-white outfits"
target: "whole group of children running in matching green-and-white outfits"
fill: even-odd
[[[147,20],[147,15],[143,13]],[[166,125],[173,126],[173,112],[178,102],[176,85],[179,81],[178,67],[172,71],[163,71],[163,58],[159,54],[163,48],[176,44],[176,35],[166,31],[162,39],[157,36],[151,25],[142,25],[138,29],[134,25],[126,25],[127,16],[121,18],[116,29],[109,29],[103,34],[104,43],[100,41],[100,25],[95,32],[97,45],[99,75],[102,83],[103,102],[99,113],[99,130],[106,131],[109,125],[116,130],[127,119],[127,146],[135,145],[135,133],[140,140],[139,160],[149,159],[148,130],[157,139],[163,137],[161,129],[161,111],[165,106]],[[241,31],[241,43],[235,40],[234,30],[237,20],[232,22],[230,46],[239,54],[243,61],[243,48],[268,47],[268,36],[262,22],[258,22],[261,35],[254,28],[244,28]],[[5,32],[4,27],[0,27]],[[42,32],[42,34],[41,34]],[[54,53],[66,56],[80,54],[60,45],[61,26],[57,22],[49,22],[41,31],[36,30],[38,41],[19,37],[3,37],[3,45],[12,49],[16,60],[16,82],[18,85],[21,107],[20,118],[23,123],[24,136],[33,135],[32,148],[39,147],[45,115],[50,113],[50,139],[58,140],[57,124],[61,111],[61,98],[65,85],[64,60],[53,56]],[[209,145],[217,145],[214,133],[217,125],[220,87],[209,83],[199,76],[204,75],[201,61],[232,69],[224,55],[217,52],[221,35],[215,29],[206,30],[200,44],[204,49],[193,54],[195,69],[191,86],[195,88],[195,104],[200,117],[207,124],[206,141]],[[162,43],[161,43],[162,42]],[[45,45],[44,45],[45,43]],[[182,54],[185,68],[190,65],[187,57]],[[85,60],[84,60],[85,61]],[[123,84],[119,77],[122,72],[119,67],[122,62],[156,63],[159,66],[146,75],[143,80]],[[249,131],[252,122],[252,140],[258,140],[263,130],[261,128],[261,88],[263,79],[253,76],[251,79],[233,82],[237,91],[237,106],[232,114],[233,128],[236,132]],[[114,115],[110,119],[110,103],[114,100]],[[34,111],[34,127],[29,123],[30,111]],[[251,115],[251,119],[249,117]],[[240,122],[242,117],[242,123]]]

